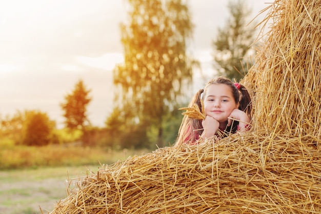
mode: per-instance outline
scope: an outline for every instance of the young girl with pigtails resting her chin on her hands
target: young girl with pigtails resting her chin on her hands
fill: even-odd
[[[197,104],[202,109],[202,99],[206,118],[198,120],[185,115],[176,144],[195,143],[199,138],[206,139],[213,135],[226,137],[229,133],[248,128],[252,106],[250,94],[243,85],[225,77],[212,79],[204,89],[198,90],[189,107]]]

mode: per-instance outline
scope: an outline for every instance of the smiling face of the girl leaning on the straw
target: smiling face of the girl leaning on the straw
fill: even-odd
[[[226,127],[227,118],[234,109],[238,108],[238,103],[235,102],[229,86],[211,84],[205,94],[204,108],[206,115],[219,122],[219,127]]]

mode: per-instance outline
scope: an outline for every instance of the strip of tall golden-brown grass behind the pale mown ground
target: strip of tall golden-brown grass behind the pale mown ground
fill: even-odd
[[[0,170],[113,164],[131,155],[140,155],[148,150],[112,150],[101,147],[68,145],[14,146],[0,150]]]

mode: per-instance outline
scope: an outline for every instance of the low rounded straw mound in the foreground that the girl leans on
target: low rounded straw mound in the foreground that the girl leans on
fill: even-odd
[[[317,213],[321,152],[252,132],[160,148],[78,181],[52,213]],[[300,144],[300,146],[298,146]]]

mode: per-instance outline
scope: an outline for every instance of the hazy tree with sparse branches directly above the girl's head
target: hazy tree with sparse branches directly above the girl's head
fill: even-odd
[[[218,34],[213,41],[214,68],[230,79],[240,80],[247,73],[246,57],[251,52],[250,45],[255,41],[254,23],[248,25],[251,9],[247,4],[243,0],[228,2],[231,16],[226,26],[218,27]]]

